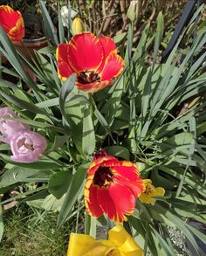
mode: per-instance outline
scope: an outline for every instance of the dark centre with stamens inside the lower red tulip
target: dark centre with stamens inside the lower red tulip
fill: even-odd
[[[93,177],[93,184],[101,187],[108,187],[113,182],[113,172],[109,167],[100,166]]]

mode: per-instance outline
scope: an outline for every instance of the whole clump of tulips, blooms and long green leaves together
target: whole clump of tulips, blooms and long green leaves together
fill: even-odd
[[[205,27],[195,26],[184,51],[182,39],[203,6],[163,62],[161,13],[156,31],[147,24],[133,45],[132,19],[127,33],[108,38],[79,18],[65,28],[59,15],[55,28],[40,5],[48,46],[31,59],[12,44],[24,45],[20,13],[0,6],[1,204],[59,211],[58,227],[85,223],[69,256],[175,255],[170,226],[201,255],[206,236],[189,221],[206,223]],[[96,239],[102,225],[107,240]]]

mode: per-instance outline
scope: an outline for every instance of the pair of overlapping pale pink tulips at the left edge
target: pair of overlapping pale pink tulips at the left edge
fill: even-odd
[[[42,135],[30,130],[29,125],[17,119],[17,115],[10,107],[0,109],[0,141],[10,144],[15,162],[32,163],[38,161],[46,149],[46,140]]]

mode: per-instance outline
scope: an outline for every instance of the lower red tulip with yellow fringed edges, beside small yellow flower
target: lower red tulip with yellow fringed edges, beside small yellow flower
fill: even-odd
[[[143,183],[135,163],[119,161],[113,156],[95,156],[87,171],[85,185],[86,210],[99,218],[106,213],[114,222],[127,220],[134,212],[135,200],[143,191]]]

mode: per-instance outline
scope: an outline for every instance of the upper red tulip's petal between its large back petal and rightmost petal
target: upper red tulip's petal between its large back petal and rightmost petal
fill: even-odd
[[[100,73],[105,66],[106,58],[109,56],[111,52],[117,53],[116,45],[113,42],[112,38],[108,37],[101,37],[100,38],[101,45],[103,46],[104,50],[104,60],[102,61],[101,66],[99,67],[98,72]]]

